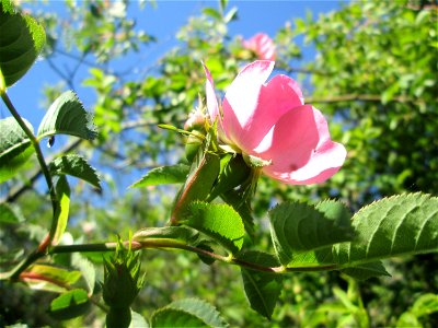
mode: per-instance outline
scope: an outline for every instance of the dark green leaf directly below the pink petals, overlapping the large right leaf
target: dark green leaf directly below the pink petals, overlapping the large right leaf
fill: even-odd
[[[351,239],[350,214],[344,204],[324,201],[315,208],[287,202],[269,212],[272,237],[281,263],[299,253]]]

